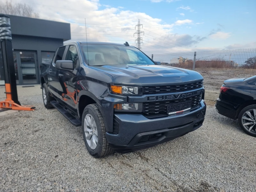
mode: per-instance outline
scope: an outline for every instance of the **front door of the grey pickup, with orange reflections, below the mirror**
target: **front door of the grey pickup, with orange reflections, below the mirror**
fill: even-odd
[[[67,51],[64,55],[63,60],[72,60],[74,70],[59,70],[59,81],[60,81],[60,91],[62,100],[66,105],[74,110],[76,110],[77,101],[77,74],[80,69],[80,59],[78,55],[78,47],[76,44],[71,44],[67,46]]]

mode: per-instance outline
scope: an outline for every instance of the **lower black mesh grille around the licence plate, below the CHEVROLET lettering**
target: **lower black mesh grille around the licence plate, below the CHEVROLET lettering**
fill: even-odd
[[[159,115],[159,114],[166,114],[167,115],[167,105],[174,104],[174,103],[182,103],[188,100],[192,100],[191,108],[196,108],[199,106],[200,101],[202,100],[202,95],[197,95],[185,99],[179,100],[169,100],[169,101],[155,101],[155,102],[147,102],[143,103],[143,114],[150,116],[150,115]]]

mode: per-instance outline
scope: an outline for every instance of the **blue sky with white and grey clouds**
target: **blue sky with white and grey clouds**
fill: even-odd
[[[14,0],[13,0],[14,1]],[[72,40],[135,45],[147,54],[256,47],[255,0],[17,0],[41,19],[71,23]]]

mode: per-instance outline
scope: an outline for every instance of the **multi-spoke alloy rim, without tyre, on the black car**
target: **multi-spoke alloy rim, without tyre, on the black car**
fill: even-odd
[[[242,124],[248,132],[256,134],[256,109],[250,109],[244,113]]]

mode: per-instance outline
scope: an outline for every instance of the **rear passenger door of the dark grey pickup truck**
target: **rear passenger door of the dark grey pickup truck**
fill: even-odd
[[[59,70],[56,68],[55,63],[57,60],[62,60],[64,52],[65,52],[66,46],[59,47],[58,50],[56,51],[52,63],[49,67],[48,71],[48,88],[50,92],[55,96],[59,98],[59,87],[60,87],[60,82],[59,82]]]

